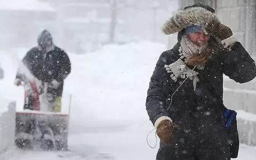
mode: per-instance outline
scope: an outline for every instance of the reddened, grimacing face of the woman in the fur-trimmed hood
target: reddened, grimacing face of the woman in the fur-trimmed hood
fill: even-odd
[[[209,41],[210,35],[206,35],[202,30],[197,31],[196,33],[188,35],[191,42],[196,44],[198,47],[203,46]]]

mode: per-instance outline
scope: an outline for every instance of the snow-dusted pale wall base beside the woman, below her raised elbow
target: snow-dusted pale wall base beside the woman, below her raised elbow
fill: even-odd
[[[224,89],[223,101],[225,106],[237,111],[240,142],[254,146],[256,146],[255,100],[255,91]]]

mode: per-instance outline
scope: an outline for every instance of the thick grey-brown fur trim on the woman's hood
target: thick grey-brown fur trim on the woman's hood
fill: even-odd
[[[213,23],[220,23],[215,13],[203,7],[190,7],[173,12],[172,17],[164,23],[162,31],[164,34],[170,35],[185,29],[187,26],[198,25],[202,26],[204,33],[207,34],[206,26]]]

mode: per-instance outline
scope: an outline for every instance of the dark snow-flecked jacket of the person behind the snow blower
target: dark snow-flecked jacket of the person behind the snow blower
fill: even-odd
[[[53,79],[56,79],[60,82],[59,87],[52,92],[57,96],[62,95],[64,79],[71,71],[71,63],[64,50],[53,46],[53,50],[43,53],[40,47],[33,47],[27,52],[22,62],[39,81],[50,84]],[[19,71],[17,78],[23,78]]]

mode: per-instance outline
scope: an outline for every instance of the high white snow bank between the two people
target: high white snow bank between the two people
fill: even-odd
[[[124,122],[148,119],[145,102],[150,76],[165,45],[141,42],[108,45],[85,54],[70,54],[72,71],[65,92],[73,94],[71,121]],[[92,121],[93,120],[93,121]]]

